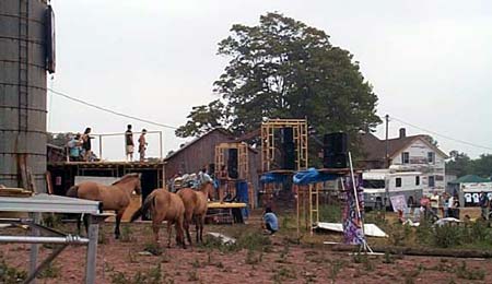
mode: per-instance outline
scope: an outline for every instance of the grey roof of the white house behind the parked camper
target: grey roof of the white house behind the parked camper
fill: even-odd
[[[386,156],[386,141],[379,140],[373,133],[361,133],[361,143],[365,152],[365,161],[384,161]],[[415,140],[420,140],[429,147],[433,149],[440,155],[447,157],[447,155],[438,147],[429,143],[426,135],[410,135],[403,138],[388,139],[388,155],[393,158],[395,155],[403,151],[407,146],[413,143]]]

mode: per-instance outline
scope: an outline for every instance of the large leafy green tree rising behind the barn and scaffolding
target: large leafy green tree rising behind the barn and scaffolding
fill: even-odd
[[[233,25],[218,54],[231,59],[214,82],[214,93],[223,102],[216,113],[223,116],[198,116],[197,109],[215,109],[195,107],[189,121],[176,131],[179,137],[197,135],[213,126],[242,134],[268,118],[307,118],[319,134],[355,133],[380,122],[375,114],[377,96],[359,63],[348,50],[332,46],[324,31],[267,13],[259,25]]]

